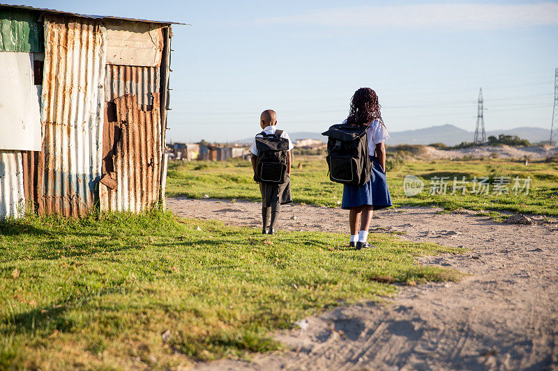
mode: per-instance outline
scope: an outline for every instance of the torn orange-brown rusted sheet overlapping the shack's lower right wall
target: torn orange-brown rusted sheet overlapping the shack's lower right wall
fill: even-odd
[[[135,95],[107,102],[101,211],[142,212],[158,203],[163,160],[160,132],[157,93],[151,111],[142,111]],[[110,180],[105,180],[107,175]]]

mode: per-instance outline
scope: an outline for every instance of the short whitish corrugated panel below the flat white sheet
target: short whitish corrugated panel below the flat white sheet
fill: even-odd
[[[19,218],[24,212],[22,154],[0,151],[0,219]]]

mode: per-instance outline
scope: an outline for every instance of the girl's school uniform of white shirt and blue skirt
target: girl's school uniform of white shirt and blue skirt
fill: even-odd
[[[343,121],[347,123],[347,120]],[[366,129],[368,137],[368,155],[372,161],[372,177],[363,186],[343,184],[342,209],[352,209],[363,205],[372,205],[374,210],[391,206],[386,173],[375,156],[376,145],[389,139],[388,130],[379,120],[372,120]]]

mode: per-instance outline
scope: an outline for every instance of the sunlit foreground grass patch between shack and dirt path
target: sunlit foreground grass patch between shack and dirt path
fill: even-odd
[[[250,184],[251,185],[251,184]],[[169,213],[0,222],[0,369],[167,368],[280,349],[271,331],[393,283],[455,281],[416,265],[455,248],[372,234],[258,230]],[[164,341],[162,334],[169,330]]]

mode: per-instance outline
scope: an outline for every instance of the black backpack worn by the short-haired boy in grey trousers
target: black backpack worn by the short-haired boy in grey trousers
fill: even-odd
[[[258,183],[283,184],[287,181],[287,151],[289,140],[281,138],[282,130],[275,134],[262,132],[256,137],[257,161],[254,180]]]

